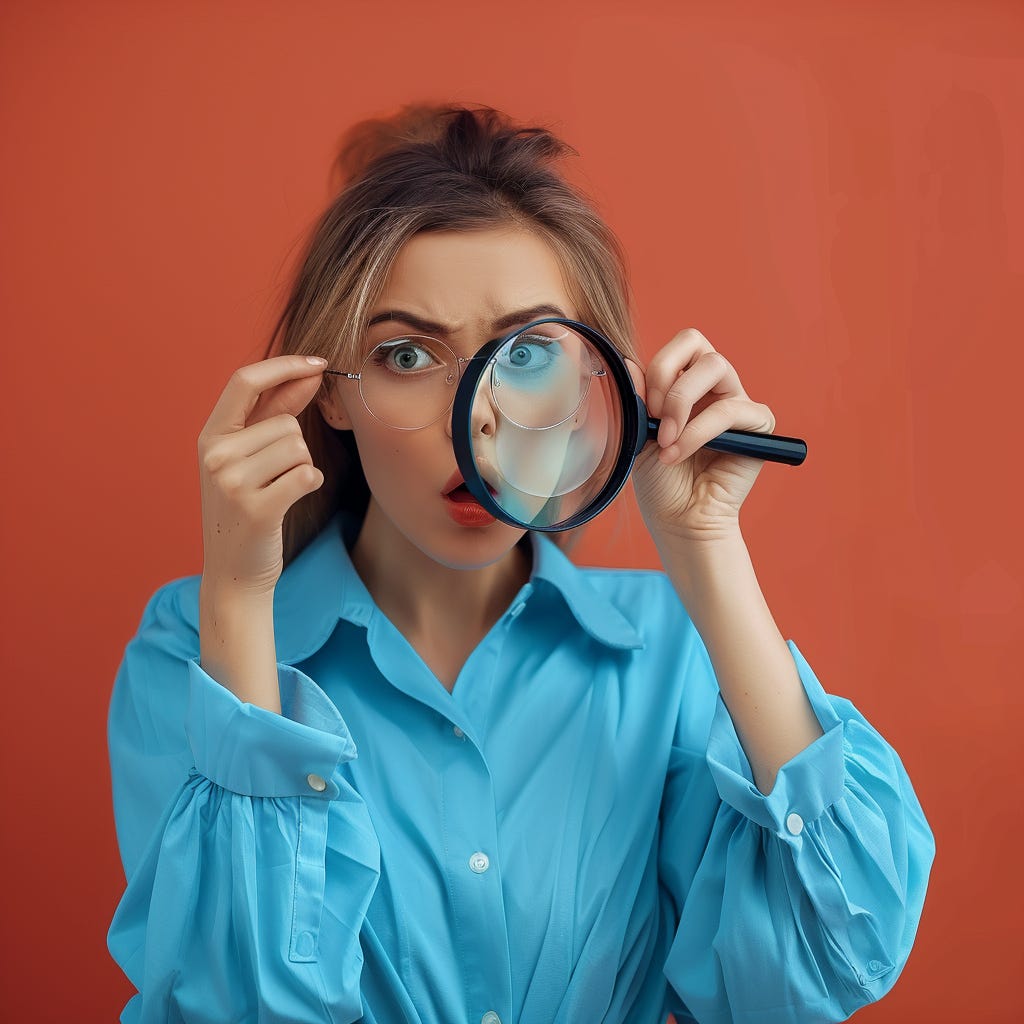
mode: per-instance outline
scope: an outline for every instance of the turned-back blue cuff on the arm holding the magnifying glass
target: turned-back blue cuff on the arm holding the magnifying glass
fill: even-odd
[[[764,828],[794,839],[805,822],[814,821],[843,796],[846,765],[843,721],[797,645],[792,640],[786,644],[824,734],[779,768],[771,793],[765,795],[754,782],[736,727],[719,693],[708,740],[708,765],[722,800]]]

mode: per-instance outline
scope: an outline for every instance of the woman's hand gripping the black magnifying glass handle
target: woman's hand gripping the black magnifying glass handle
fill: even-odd
[[[648,529],[695,541],[734,537],[764,461],[703,444],[724,430],[771,433],[771,410],[751,400],[732,364],[693,328],[657,352],[645,378],[636,364],[630,372],[647,411],[662,421],[657,443],[643,449],[633,473]]]

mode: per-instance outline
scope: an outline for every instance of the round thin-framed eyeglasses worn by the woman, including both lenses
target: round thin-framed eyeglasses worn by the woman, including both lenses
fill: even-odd
[[[358,381],[362,404],[381,423],[417,430],[447,413],[464,364],[478,357],[456,355],[436,338],[401,335],[377,345],[358,373],[325,373]],[[603,373],[583,337],[558,322],[541,321],[513,332],[488,361],[495,408],[527,429],[550,427],[572,416],[587,396],[591,376]]]

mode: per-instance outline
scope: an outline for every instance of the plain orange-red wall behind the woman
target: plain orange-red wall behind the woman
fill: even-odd
[[[1013,1019],[1024,5],[442,6],[0,9],[2,1016],[129,994],[106,703],[147,597],[202,569],[199,431],[344,128],[459,99],[580,150],[648,357],[697,327],[809,442],[744,506],[755,566],[938,842],[909,964],[857,1019]],[[578,555],[655,564],[632,496]]]

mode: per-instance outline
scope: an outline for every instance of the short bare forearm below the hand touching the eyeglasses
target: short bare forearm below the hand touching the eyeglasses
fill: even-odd
[[[200,667],[240,700],[281,714],[273,595],[200,586]]]

